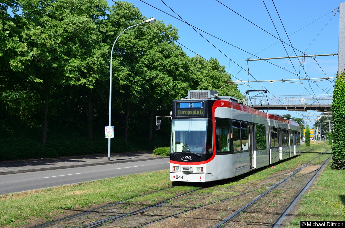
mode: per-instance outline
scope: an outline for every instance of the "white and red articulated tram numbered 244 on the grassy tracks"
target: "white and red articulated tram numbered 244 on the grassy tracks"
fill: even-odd
[[[297,122],[216,93],[172,101],[170,180],[226,179],[300,154]]]

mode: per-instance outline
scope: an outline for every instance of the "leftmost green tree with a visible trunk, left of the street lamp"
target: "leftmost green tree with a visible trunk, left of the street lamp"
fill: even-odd
[[[11,69],[31,91],[39,93],[43,104],[42,144],[46,144],[49,93],[62,77],[60,30],[51,9],[53,1],[19,1],[22,9],[20,45],[16,46]]]

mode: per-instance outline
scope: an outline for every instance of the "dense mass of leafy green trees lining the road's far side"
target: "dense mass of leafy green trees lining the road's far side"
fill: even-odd
[[[129,2],[112,7],[106,0],[0,3],[0,135],[8,139],[16,137],[14,129],[26,129],[33,133],[22,137],[50,148],[63,134],[92,141],[95,132],[107,145],[111,47],[122,31],[142,19]],[[111,124],[118,141],[125,143],[112,152],[130,149],[127,137],[167,146],[169,126],[166,132],[153,131],[155,116],[168,115],[171,101],[186,97],[188,90],[218,91],[231,81],[217,59],[187,56],[175,43],[177,28],[162,21],[153,25],[126,30],[114,47]],[[219,93],[242,96],[235,84]],[[67,155],[63,150],[41,156]]]

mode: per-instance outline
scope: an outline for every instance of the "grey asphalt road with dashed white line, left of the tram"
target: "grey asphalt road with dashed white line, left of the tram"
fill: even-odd
[[[0,195],[169,168],[169,157],[0,176]]]

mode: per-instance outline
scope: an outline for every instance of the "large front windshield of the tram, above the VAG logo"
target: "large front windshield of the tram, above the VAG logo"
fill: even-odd
[[[212,132],[207,134],[207,120],[172,120],[171,126],[171,153],[212,152]]]

